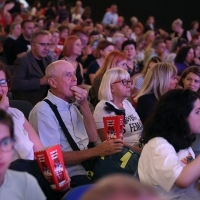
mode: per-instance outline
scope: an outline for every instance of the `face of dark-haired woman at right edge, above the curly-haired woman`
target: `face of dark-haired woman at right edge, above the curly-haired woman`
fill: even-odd
[[[192,72],[182,80],[184,89],[190,89],[197,92],[200,88],[200,77]]]

